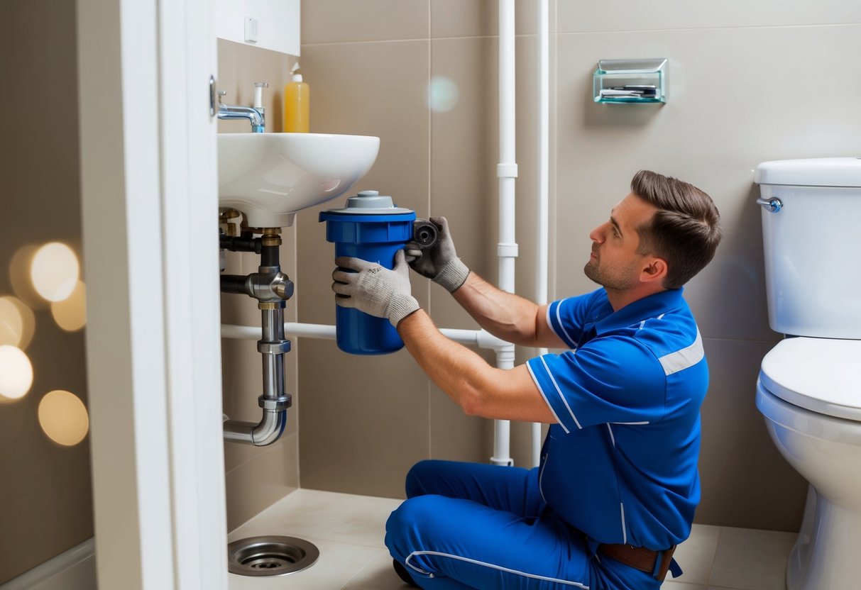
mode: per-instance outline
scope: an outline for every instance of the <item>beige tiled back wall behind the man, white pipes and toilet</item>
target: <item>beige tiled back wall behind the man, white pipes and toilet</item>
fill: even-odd
[[[551,296],[592,289],[581,272],[588,231],[654,169],[707,190],[726,237],[686,289],[711,367],[703,406],[705,524],[795,530],[805,483],[765,433],[753,405],[768,327],[753,169],[765,160],[858,155],[855,0],[806,3],[551,2]],[[302,57],[313,132],[378,135],[380,156],[356,190],[449,218],[458,253],[496,280],[497,3],[495,0],[307,0]],[[517,2],[517,291],[534,293],[536,0]],[[663,106],[591,100],[602,58],[670,58]],[[449,113],[425,103],[432,76],[452,79]],[[303,322],[333,323],[331,244],[319,210],[297,220]],[[413,276],[437,323],[474,323],[437,286]],[[533,351],[520,352],[521,360]],[[486,461],[492,429],[461,415],[406,352],[360,358],[331,341],[299,350],[302,486],[402,495],[421,458]],[[513,455],[527,464],[524,429]]]

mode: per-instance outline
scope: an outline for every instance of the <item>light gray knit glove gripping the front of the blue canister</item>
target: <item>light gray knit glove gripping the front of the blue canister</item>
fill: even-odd
[[[336,258],[335,264],[338,268],[331,273],[335,280],[331,290],[336,295],[335,303],[341,307],[351,307],[374,317],[386,317],[395,328],[402,319],[418,310],[418,301],[411,294],[410,270],[403,250],[394,255],[393,270],[376,262],[348,256]]]

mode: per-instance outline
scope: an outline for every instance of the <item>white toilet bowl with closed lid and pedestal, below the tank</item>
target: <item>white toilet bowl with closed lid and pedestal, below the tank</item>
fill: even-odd
[[[763,360],[756,405],[777,450],[810,482],[786,587],[858,587],[861,341],[781,341]]]

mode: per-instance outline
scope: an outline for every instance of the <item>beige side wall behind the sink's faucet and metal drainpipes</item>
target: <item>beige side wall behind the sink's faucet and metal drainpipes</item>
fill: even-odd
[[[257,47],[218,41],[218,87],[226,90],[225,104],[251,105],[254,83],[268,82],[263,90],[267,132],[281,131],[282,95],[295,58]],[[219,132],[247,133],[246,120],[219,121]],[[281,249],[282,271],[295,280],[296,249],[294,228],[284,228]],[[260,256],[253,253],[227,252],[228,274],[256,273]],[[287,304],[285,320],[296,321],[295,299]],[[260,326],[257,300],[245,295],[221,295],[221,319],[224,323]],[[285,359],[285,390],[293,395],[288,410],[287,428],[281,439],[270,446],[247,446],[225,442],[227,530],[232,530],[299,487],[299,413],[296,363],[298,342]],[[257,405],[263,387],[262,361],[257,342],[221,341],[222,396],[224,411],[234,420],[257,422],[261,410]]]

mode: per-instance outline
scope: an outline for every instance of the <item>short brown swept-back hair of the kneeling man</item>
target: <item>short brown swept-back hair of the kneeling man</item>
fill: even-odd
[[[721,214],[699,188],[651,170],[640,170],[631,192],[658,207],[651,223],[637,228],[638,252],[666,261],[664,286],[678,289],[703,270],[721,242]]]

